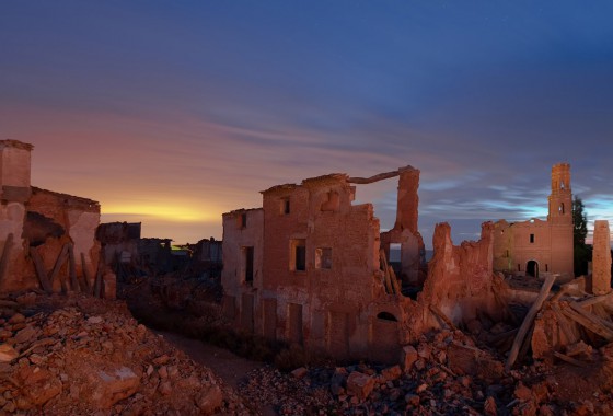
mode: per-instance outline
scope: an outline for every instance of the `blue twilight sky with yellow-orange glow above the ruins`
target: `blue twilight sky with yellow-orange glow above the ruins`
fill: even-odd
[[[221,239],[259,190],[421,171],[419,228],[546,216],[571,164],[613,221],[613,2],[0,2],[0,139],[143,236]],[[382,229],[396,180],[358,186]],[[613,222],[612,222],[613,227]]]

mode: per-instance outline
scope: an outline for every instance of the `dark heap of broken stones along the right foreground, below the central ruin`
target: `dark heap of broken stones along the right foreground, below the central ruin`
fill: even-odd
[[[253,370],[241,393],[279,414],[609,415],[611,394],[566,400],[559,374],[535,363],[506,373],[496,353],[460,331],[423,336],[397,366]]]

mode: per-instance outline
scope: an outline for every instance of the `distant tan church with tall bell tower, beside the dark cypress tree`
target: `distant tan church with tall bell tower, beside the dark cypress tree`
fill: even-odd
[[[546,220],[495,223],[494,268],[514,275],[534,277],[559,274],[567,281],[574,277],[572,190],[570,165],[552,167],[552,194]]]

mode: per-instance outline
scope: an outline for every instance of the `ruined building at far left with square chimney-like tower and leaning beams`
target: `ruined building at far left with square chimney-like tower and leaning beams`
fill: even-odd
[[[99,267],[100,204],[31,186],[33,146],[0,140],[0,291],[42,288],[115,297]]]

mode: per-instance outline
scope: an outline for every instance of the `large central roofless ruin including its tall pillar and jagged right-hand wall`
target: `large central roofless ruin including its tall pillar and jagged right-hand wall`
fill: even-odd
[[[371,204],[352,205],[356,184],[398,177],[394,228],[380,232]],[[491,223],[479,242],[454,246],[438,224],[427,278],[417,231],[419,171],[370,178],[331,174],[274,186],[263,207],[223,215],[223,309],[238,327],[335,358],[397,361],[424,331],[493,316]],[[401,244],[400,276],[389,265]],[[405,285],[424,281],[416,301]]]

